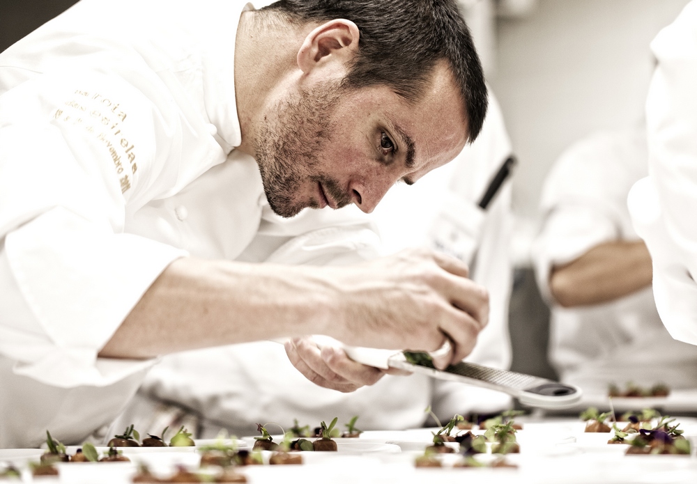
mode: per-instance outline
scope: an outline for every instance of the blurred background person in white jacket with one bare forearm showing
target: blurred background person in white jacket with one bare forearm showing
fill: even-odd
[[[542,190],[533,259],[551,306],[550,361],[562,381],[595,402],[611,384],[697,386],[697,348],[661,324],[651,258],[627,210],[647,159],[643,123],[598,132],[562,153]]]

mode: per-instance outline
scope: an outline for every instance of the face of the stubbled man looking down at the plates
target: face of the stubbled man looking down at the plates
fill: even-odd
[[[301,91],[266,114],[254,149],[280,216],[349,203],[369,213],[395,182],[411,184],[457,156],[466,128],[459,90],[439,65],[415,103],[387,86],[326,81]]]

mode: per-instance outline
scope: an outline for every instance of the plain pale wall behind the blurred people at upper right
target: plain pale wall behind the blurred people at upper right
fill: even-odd
[[[514,251],[526,263],[544,176],[569,144],[643,116],[649,44],[688,0],[539,0],[524,17],[496,21],[489,83],[519,166]]]

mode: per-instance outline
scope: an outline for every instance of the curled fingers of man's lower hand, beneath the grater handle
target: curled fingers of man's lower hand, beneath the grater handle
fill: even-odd
[[[337,375],[322,360],[320,350],[312,341],[305,338],[298,338],[285,343],[286,354],[291,364],[302,373],[307,380],[319,387],[348,393],[355,391],[358,387]]]

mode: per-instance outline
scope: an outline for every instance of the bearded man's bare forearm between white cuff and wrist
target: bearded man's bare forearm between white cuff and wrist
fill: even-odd
[[[167,267],[100,351],[161,354],[284,336],[328,334],[330,288],[316,267],[181,258]]]

